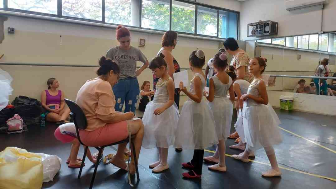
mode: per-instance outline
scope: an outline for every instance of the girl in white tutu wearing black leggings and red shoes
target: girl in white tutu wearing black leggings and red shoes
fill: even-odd
[[[191,171],[183,173],[184,178],[201,178],[204,149],[218,144],[215,131],[215,121],[209,106],[202,101],[202,91],[206,85],[206,77],[202,71],[205,55],[202,50],[195,50],[189,57],[194,77],[190,84],[190,91],[180,82],[180,90],[189,99],[184,103],[181,116],[175,132],[175,148],[194,149],[194,156],[190,162],[182,163]]]

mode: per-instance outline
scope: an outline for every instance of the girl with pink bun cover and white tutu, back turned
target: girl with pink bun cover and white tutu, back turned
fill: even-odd
[[[209,79],[209,93],[204,92],[203,95],[208,99],[209,106],[212,110],[216,124],[216,134],[218,137],[218,145],[216,152],[219,155],[219,163],[208,166],[211,170],[226,172],[225,164],[225,140],[230,133],[233,104],[235,100],[235,92],[233,90],[232,78],[227,75],[225,69],[227,67],[227,56],[224,53],[217,53],[213,57],[213,66],[216,75]],[[230,98],[227,98],[229,91]],[[205,161],[211,161],[213,156],[205,157]],[[218,157],[217,157],[218,158]]]

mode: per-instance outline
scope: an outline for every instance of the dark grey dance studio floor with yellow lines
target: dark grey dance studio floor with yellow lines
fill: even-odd
[[[282,128],[293,133],[314,140],[332,150],[336,150],[336,118],[325,115],[310,114],[304,112],[288,112],[275,109],[278,113]],[[235,116],[234,116],[235,117]],[[235,118],[234,118],[235,119]],[[235,121],[235,120],[234,120]],[[327,126],[321,126],[327,125]],[[7,146],[25,148],[29,152],[39,152],[57,155],[62,158],[62,167],[52,182],[44,183],[43,188],[88,188],[93,166],[86,161],[82,177],[77,180],[79,169],[70,169],[65,160],[69,156],[70,144],[62,144],[57,141],[53,132],[57,126],[48,124],[45,127],[30,126],[29,131],[22,134],[0,135],[0,151]],[[231,132],[234,129],[232,127]],[[303,171],[314,175],[321,175],[336,179],[336,154],[324,148],[298,138],[286,131],[282,131],[284,142],[275,146],[279,165],[285,168]],[[234,140],[227,140],[227,154],[238,154],[242,151],[229,149]],[[215,150],[214,147],[209,150]],[[91,148],[95,152],[94,148]],[[115,153],[112,148],[107,148],[104,154]],[[79,156],[82,156],[80,149]],[[148,165],[158,159],[157,150],[142,149],[139,158],[140,182],[137,188],[145,189],[182,189],[182,188],[324,188],[335,189],[336,183],[316,176],[282,169],[283,175],[277,178],[263,178],[261,172],[269,169],[265,152],[261,149],[256,152],[253,163],[243,163],[226,157],[227,172],[219,173],[209,171],[204,163],[201,180],[184,180],[181,177],[186,170],[181,168],[181,163],[189,161],[193,155],[192,150],[184,150],[176,153],[173,148],[169,149],[168,163],[170,168],[161,174],[153,174]],[[205,156],[212,155],[205,152]],[[118,170],[113,165],[98,166],[94,188],[131,188],[127,182],[127,173]]]

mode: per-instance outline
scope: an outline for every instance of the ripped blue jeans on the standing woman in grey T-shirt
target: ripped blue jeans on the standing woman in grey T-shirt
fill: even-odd
[[[116,97],[116,111],[121,112],[125,103],[125,112],[134,112],[140,93],[139,83],[137,78],[128,77],[120,79],[113,86],[113,93]]]

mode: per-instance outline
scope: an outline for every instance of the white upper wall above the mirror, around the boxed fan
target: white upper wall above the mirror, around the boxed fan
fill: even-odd
[[[259,20],[279,22],[278,36],[301,35],[321,31],[322,10],[307,8],[287,11],[283,0],[248,0],[241,3],[240,39],[247,37],[247,24]],[[323,10],[323,31],[336,30],[336,0]]]

